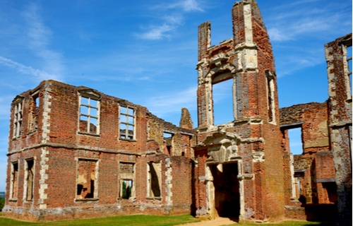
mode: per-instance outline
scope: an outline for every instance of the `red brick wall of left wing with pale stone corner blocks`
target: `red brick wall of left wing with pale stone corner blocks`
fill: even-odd
[[[36,114],[37,129],[33,131],[34,127],[28,122],[33,121],[30,112],[35,105],[34,92],[37,92],[40,107]],[[78,128],[80,93],[99,101],[98,122],[90,124],[97,132],[83,132]],[[20,135],[13,138],[13,117],[18,101],[23,103],[23,123]],[[133,109],[135,135],[132,139],[119,136],[121,106]],[[184,109],[181,121],[189,128],[192,122],[186,113],[187,109]],[[47,221],[131,213],[191,213],[190,157],[193,156],[194,132],[158,119],[145,107],[90,88],[44,81],[35,90],[28,90],[13,101],[10,130],[4,215]],[[160,150],[164,130],[175,133],[174,153],[187,156],[167,160],[169,155]],[[30,201],[23,201],[26,160],[34,161],[33,198]],[[162,192],[157,199],[148,198],[147,165],[151,161],[159,161],[162,165]],[[10,199],[14,162],[18,164],[18,195],[16,199]],[[119,169],[119,165],[124,164],[133,167],[130,176]],[[170,176],[164,173],[168,164]],[[133,183],[132,196],[128,199],[121,198],[124,179],[131,179]],[[174,190],[167,192],[166,186]]]

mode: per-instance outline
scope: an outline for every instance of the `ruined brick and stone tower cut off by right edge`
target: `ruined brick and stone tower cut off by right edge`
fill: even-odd
[[[349,47],[352,47],[352,33],[325,44],[330,142],[338,196],[336,225],[352,225],[352,69],[349,69],[352,49]]]

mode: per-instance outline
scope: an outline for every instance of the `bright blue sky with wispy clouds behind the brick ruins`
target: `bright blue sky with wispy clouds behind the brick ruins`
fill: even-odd
[[[11,101],[43,80],[94,88],[177,125],[187,107],[197,126],[198,25],[211,21],[212,44],[229,39],[233,4],[0,1],[0,191],[6,186]],[[258,6],[273,44],[280,107],[324,102],[323,44],[352,32],[352,1],[259,0]],[[225,83],[217,102],[229,102],[227,92]]]

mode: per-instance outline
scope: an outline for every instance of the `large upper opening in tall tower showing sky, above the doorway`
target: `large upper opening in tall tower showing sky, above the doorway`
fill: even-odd
[[[234,121],[233,113],[233,79],[213,84],[213,118],[214,124]]]

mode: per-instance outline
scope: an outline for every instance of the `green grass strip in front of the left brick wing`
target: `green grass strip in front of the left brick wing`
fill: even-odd
[[[127,215],[109,218],[92,218],[84,220],[62,220],[55,222],[24,222],[12,220],[8,218],[0,218],[1,226],[20,226],[20,225],[35,225],[35,226],[61,226],[61,225],[102,225],[102,226],[168,226],[180,225],[188,222],[197,222],[196,218],[191,215],[179,216],[155,216],[155,215]]]

